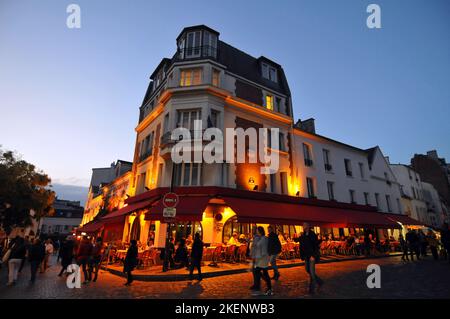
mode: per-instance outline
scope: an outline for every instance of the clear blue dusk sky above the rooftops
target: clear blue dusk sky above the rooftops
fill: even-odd
[[[81,7],[81,29],[66,7]],[[381,7],[368,29],[366,7]],[[55,182],[131,160],[148,77],[185,26],[280,63],[295,118],[391,162],[450,160],[450,1],[0,0],[0,144]]]

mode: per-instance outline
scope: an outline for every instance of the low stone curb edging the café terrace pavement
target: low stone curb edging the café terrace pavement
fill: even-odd
[[[402,255],[402,253],[394,253],[394,254],[385,255],[385,256],[349,257],[349,258],[343,258],[343,259],[329,259],[329,260],[321,260],[319,262],[319,264],[330,264],[330,263],[335,263],[335,262],[353,261],[353,260],[389,258],[389,257],[397,257],[397,256],[401,256],[401,255]],[[304,266],[304,265],[305,265],[305,263],[302,261],[302,262],[292,263],[292,264],[288,264],[288,265],[278,265],[278,268],[294,268],[294,267],[300,267],[300,266]],[[119,270],[115,270],[115,269],[108,268],[105,266],[102,266],[101,269],[103,269],[105,271],[109,271],[113,275],[126,278],[126,274],[124,274],[123,272],[121,272]],[[269,269],[272,269],[272,268],[269,267]],[[243,268],[243,269],[213,271],[213,272],[203,273],[202,275],[203,275],[203,279],[205,279],[205,278],[214,278],[214,277],[227,276],[227,275],[243,274],[246,272],[249,272],[248,269]],[[197,276],[194,275],[194,278],[196,278],[196,277]],[[135,281],[147,281],[147,282],[151,282],[151,281],[190,281],[191,280],[191,279],[189,279],[189,274],[182,274],[182,275],[136,275],[136,274],[133,274],[133,279]]]

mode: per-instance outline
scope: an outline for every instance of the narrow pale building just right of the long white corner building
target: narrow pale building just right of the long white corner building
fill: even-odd
[[[429,216],[420,175],[411,167],[403,164],[391,164],[391,169],[401,184],[402,204],[406,214],[431,225],[432,217]]]

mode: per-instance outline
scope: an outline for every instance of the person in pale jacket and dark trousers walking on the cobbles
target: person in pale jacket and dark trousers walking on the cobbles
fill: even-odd
[[[264,279],[267,285],[265,292],[266,296],[272,296],[272,283],[270,281],[269,272],[269,239],[266,237],[264,228],[259,226],[256,229],[256,235],[252,244],[251,257],[253,259],[253,272],[254,272],[254,283],[253,283],[253,294],[257,295],[261,290],[261,277]]]

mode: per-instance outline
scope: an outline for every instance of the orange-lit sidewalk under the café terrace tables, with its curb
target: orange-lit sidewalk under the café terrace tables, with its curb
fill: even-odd
[[[343,256],[343,255],[329,255],[322,256],[320,260],[320,264],[325,263],[335,263],[341,261],[350,261],[350,260],[364,260],[364,259],[374,259],[374,258],[386,258],[386,257],[394,257],[401,256],[401,253],[388,253],[386,255],[379,256]],[[218,276],[226,276],[226,275],[234,275],[234,274],[242,274],[250,271],[249,263],[219,263],[217,267],[208,266],[209,261],[203,262],[204,266],[202,266],[202,275],[203,278],[212,278]],[[278,260],[277,261],[278,268],[292,268],[303,266],[304,262],[300,259],[291,259],[291,260]],[[108,265],[103,266],[102,269],[109,271],[111,274],[126,277],[123,273],[122,265]],[[194,270],[194,278],[197,278],[197,271]],[[167,272],[162,271],[162,266],[151,266],[146,269],[136,269],[133,271],[133,278],[137,281],[184,281],[189,280],[189,271],[185,268],[182,269],[173,269]]]

